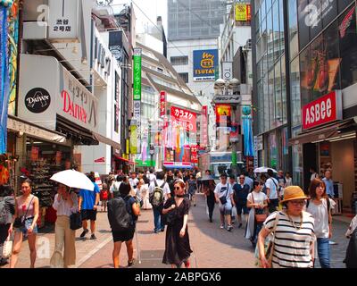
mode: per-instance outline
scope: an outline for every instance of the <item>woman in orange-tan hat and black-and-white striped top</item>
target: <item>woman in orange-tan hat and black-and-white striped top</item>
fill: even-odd
[[[270,214],[259,233],[259,257],[263,268],[309,268],[314,260],[314,219],[303,211],[306,196],[303,189],[290,186],[285,189],[285,209]],[[265,257],[264,241],[274,231],[271,265]]]

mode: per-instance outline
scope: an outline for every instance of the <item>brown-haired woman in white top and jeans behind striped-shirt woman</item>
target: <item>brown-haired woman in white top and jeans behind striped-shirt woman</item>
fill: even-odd
[[[314,179],[309,187],[310,199],[306,205],[306,211],[315,220],[315,236],[317,238],[317,250],[322,268],[330,268],[329,239],[332,237],[331,203],[326,194],[324,181]]]

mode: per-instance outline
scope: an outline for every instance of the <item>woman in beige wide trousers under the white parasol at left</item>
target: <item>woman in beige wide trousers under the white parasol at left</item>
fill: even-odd
[[[57,220],[54,229],[54,254],[51,257],[52,268],[68,268],[76,265],[76,231],[71,230],[71,214],[78,211],[78,199],[74,191],[59,184],[54,196],[54,210]]]

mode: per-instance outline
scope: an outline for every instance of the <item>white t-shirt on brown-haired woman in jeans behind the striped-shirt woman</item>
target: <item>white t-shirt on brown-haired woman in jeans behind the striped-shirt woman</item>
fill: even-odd
[[[329,205],[329,211],[331,212],[331,204]],[[318,239],[328,239],[328,203],[326,199],[322,199],[321,205],[315,205],[312,200],[309,202],[309,206],[306,211],[312,215],[315,220],[315,235]]]

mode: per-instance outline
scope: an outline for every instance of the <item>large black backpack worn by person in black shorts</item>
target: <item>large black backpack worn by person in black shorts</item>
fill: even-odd
[[[134,225],[128,198],[112,198],[108,202],[108,220],[112,231],[128,231]]]

